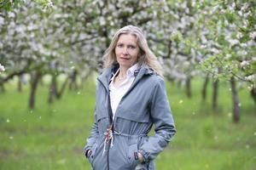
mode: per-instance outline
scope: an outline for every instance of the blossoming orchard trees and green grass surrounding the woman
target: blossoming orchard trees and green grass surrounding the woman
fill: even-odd
[[[254,170],[255,18],[253,0],[1,0],[0,169],[90,169],[95,77],[131,24],[164,67],[177,124],[157,169]]]

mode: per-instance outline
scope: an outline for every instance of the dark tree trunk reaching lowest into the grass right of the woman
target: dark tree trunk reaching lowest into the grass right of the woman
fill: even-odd
[[[239,107],[239,99],[238,99],[238,93],[237,93],[237,90],[236,90],[236,82],[235,82],[234,77],[231,77],[230,83],[231,83],[232,100],[233,100],[233,121],[234,122],[239,122],[239,120],[240,120],[240,107]]]

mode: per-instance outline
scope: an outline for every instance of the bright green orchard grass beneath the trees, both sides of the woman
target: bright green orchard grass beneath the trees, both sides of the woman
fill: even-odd
[[[177,135],[156,159],[158,170],[256,170],[256,113],[253,100],[240,90],[241,122],[232,122],[229,84],[219,91],[218,111],[211,110],[211,89],[201,102],[201,81],[193,82],[192,99],[166,82]],[[9,83],[0,94],[0,169],[90,169],[83,147],[93,122],[95,85],[47,104],[47,86],[39,87],[36,109],[27,109],[22,93]]]

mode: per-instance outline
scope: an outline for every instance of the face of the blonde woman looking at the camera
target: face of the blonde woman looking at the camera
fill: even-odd
[[[114,48],[117,62],[120,67],[125,69],[129,69],[132,65],[137,63],[139,51],[137,38],[131,34],[121,34]]]

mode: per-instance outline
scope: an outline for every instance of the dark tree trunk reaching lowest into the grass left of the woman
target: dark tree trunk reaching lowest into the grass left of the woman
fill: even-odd
[[[30,96],[29,96],[29,108],[33,109],[35,107],[35,97],[36,97],[36,91],[38,88],[38,82],[40,80],[41,73],[40,72],[35,72],[34,75],[31,75],[31,91],[30,91]]]

